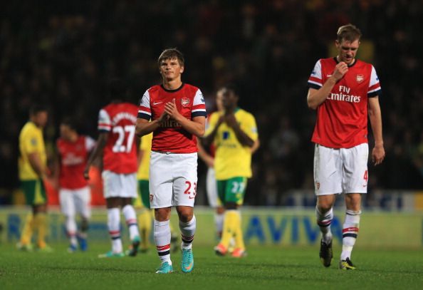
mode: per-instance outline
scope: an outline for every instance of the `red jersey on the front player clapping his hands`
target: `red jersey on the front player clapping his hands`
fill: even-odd
[[[149,88],[140,103],[138,118],[157,120],[164,111],[164,104],[175,100],[177,109],[185,118],[206,117],[206,104],[199,88],[187,83],[177,90],[166,90],[163,86]],[[175,120],[169,120],[153,132],[152,150],[174,153],[197,152],[197,138]]]

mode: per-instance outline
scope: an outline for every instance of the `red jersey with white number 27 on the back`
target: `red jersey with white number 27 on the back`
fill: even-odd
[[[137,172],[137,111],[137,106],[131,103],[111,103],[100,110],[98,130],[109,133],[103,151],[103,170],[118,174]]]

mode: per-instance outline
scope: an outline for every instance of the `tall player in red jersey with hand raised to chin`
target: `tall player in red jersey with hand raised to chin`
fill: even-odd
[[[333,259],[330,223],[336,195],[343,192],[347,211],[340,269],[347,270],[355,269],[351,252],[360,225],[361,194],[367,192],[367,114],[375,138],[372,160],[378,165],[385,157],[379,78],[370,63],[355,58],[360,37],[360,30],[352,24],[338,29],[338,56],[315,64],[307,95],[308,107],[317,109],[311,140],[315,143],[316,216],[323,234],[320,260],[328,267]]]

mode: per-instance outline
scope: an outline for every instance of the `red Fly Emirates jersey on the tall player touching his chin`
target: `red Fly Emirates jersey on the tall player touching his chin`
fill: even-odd
[[[332,76],[336,58],[320,59],[308,86],[319,89]],[[370,63],[355,61],[318,106],[312,141],[331,148],[367,143],[367,100],[380,95],[380,83]]]

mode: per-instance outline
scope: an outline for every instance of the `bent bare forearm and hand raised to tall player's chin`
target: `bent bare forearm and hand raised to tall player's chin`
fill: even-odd
[[[338,83],[341,78],[343,78],[347,71],[347,64],[341,61],[335,66],[332,76],[330,76],[330,78],[325,81],[321,88],[319,88],[318,90],[316,90],[315,88],[309,88],[307,95],[308,108],[311,108],[313,110],[317,109],[318,106],[323,103],[326,98],[328,98],[330,90],[332,90],[333,86],[335,86],[335,84]]]

